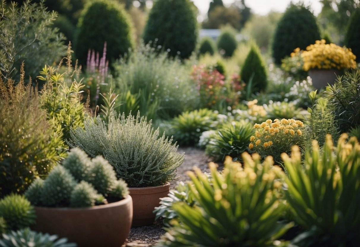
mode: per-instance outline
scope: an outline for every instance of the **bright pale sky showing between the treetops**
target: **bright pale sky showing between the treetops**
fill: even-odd
[[[271,10],[284,12],[290,2],[297,3],[300,0],[245,0],[245,5],[251,8],[252,13],[266,15]],[[315,15],[321,12],[322,4],[320,0],[303,0],[306,5],[311,5]],[[202,15],[206,15],[211,0],[193,0]],[[222,0],[224,5],[231,5],[234,0]]]

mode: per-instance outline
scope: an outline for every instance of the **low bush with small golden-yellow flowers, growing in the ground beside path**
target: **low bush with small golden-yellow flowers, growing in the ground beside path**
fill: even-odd
[[[293,145],[304,143],[304,123],[300,120],[271,119],[255,123],[255,135],[250,137],[249,151],[258,153],[262,158],[273,156],[277,164],[281,164],[281,153],[290,153]]]

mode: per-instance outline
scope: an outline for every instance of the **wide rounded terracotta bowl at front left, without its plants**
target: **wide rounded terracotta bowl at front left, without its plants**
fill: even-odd
[[[120,247],[131,228],[132,198],[89,208],[35,207],[35,212],[33,230],[66,237],[78,247]]]

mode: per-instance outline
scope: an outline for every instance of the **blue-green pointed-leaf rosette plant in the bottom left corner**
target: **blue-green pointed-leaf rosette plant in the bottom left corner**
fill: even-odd
[[[37,233],[31,231],[30,228],[12,231],[3,234],[0,239],[1,247],[76,247],[76,243],[68,243],[67,238],[59,238],[57,235],[49,235],[48,233]]]

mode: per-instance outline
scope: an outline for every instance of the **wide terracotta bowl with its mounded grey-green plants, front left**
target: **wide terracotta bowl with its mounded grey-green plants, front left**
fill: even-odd
[[[26,190],[35,206],[37,232],[57,234],[78,246],[121,246],[129,234],[132,199],[102,156],[74,148],[45,180]]]

